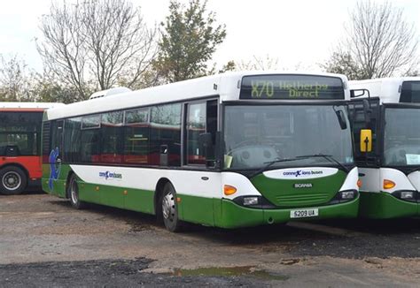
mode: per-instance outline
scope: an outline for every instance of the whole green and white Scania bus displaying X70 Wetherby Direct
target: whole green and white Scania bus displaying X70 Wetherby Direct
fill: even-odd
[[[346,76],[233,72],[47,110],[43,189],[236,228],[355,217]]]

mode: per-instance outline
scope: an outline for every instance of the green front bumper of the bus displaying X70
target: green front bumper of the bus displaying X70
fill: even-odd
[[[291,218],[291,211],[301,209],[318,209],[318,216]],[[215,217],[216,226],[222,228],[239,228],[263,224],[282,224],[289,221],[308,221],[328,218],[354,218],[359,211],[359,197],[353,201],[333,205],[306,208],[245,208],[233,201],[222,199],[220,217]]]

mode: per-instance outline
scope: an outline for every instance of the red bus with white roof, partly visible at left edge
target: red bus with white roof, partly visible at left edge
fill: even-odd
[[[43,102],[0,102],[0,193],[41,188],[43,110],[63,105]]]

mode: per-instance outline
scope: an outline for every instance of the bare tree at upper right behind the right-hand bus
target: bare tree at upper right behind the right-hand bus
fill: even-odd
[[[356,79],[393,76],[410,71],[417,63],[418,36],[413,24],[403,17],[403,10],[390,2],[360,1],[350,13],[346,38],[334,58],[344,57],[357,64],[361,73]],[[340,63],[338,63],[340,64]]]

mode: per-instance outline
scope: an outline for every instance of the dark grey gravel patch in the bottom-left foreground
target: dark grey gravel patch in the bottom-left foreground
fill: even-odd
[[[180,277],[142,272],[150,262],[136,259],[1,265],[0,284],[2,287],[269,286],[250,277]]]

